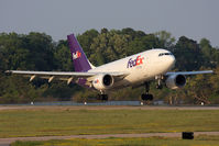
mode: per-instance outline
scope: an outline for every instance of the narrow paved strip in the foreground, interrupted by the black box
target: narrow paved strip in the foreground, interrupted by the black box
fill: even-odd
[[[219,132],[195,132],[198,135],[219,135]],[[182,137],[182,133],[143,133],[143,134],[103,134],[103,135],[69,135],[69,136],[42,136],[42,137],[12,137],[0,138],[0,146],[9,146],[15,141],[50,141],[50,139],[70,139],[70,138],[108,138],[108,137]]]

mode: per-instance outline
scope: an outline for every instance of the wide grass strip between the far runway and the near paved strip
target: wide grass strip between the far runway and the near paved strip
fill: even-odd
[[[218,110],[1,110],[0,137],[219,131]]]

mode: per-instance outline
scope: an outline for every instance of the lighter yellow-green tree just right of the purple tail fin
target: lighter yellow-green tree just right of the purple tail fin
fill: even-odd
[[[99,34],[90,46],[91,63],[102,65],[127,56],[129,40],[129,35],[119,34],[114,30]]]

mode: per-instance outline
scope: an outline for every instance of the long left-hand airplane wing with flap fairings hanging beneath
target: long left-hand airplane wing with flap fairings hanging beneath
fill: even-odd
[[[47,79],[48,82],[52,80],[65,80],[69,85],[72,81],[77,82],[78,79],[85,78],[87,81],[92,81],[95,76],[101,74],[108,74],[116,79],[123,79],[128,74],[124,72],[70,72],[70,71],[24,71],[24,70],[7,70],[6,74],[11,75],[23,75],[30,77],[30,81],[35,78]]]

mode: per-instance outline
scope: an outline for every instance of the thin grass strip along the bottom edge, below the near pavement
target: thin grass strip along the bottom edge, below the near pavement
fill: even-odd
[[[105,138],[66,139],[47,142],[15,142],[11,146],[219,146],[219,136],[198,136],[195,139],[180,138]]]

